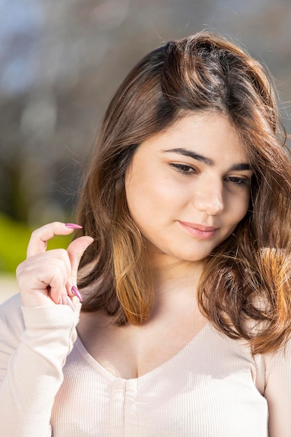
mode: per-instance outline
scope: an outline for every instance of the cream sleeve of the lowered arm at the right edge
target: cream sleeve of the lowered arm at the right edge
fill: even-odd
[[[264,397],[269,408],[269,437],[291,436],[291,341],[267,357]]]

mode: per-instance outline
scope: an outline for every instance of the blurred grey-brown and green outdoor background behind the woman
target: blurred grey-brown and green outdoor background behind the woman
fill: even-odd
[[[107,103],[167,40],[214,29],[245,47],[274,77],[290,133],[290,0],[0,0],[0,17],[0,302],[31,230],[74,220]]]

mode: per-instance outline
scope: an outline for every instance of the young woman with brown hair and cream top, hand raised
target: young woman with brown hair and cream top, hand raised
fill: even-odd
[[[291,164],[257,61],[207,32],[144,57],[77,223],[33,232],[1,306],[3,436],[291,436]]]

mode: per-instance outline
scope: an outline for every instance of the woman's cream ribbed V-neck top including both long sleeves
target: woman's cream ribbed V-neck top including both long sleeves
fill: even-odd
[[[252,357],[207,324],[170,360],[124,380],[75,339],[68,310],[24,309],[25,329],[17,297],[0,307],[1,436],[291,437],[290,345]]]

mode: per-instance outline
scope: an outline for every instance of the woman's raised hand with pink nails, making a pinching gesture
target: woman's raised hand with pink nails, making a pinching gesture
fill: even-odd
[[[69,235],[75,228],[80,226],[54,222],[33,231],[27,259],[16,271],[23,306],[70,304],[70,297],[77,294],[72,287],[77,285],[80,259],[94,239],[79,237],[67,250],[46,250],[48,240],[55,235]]]

